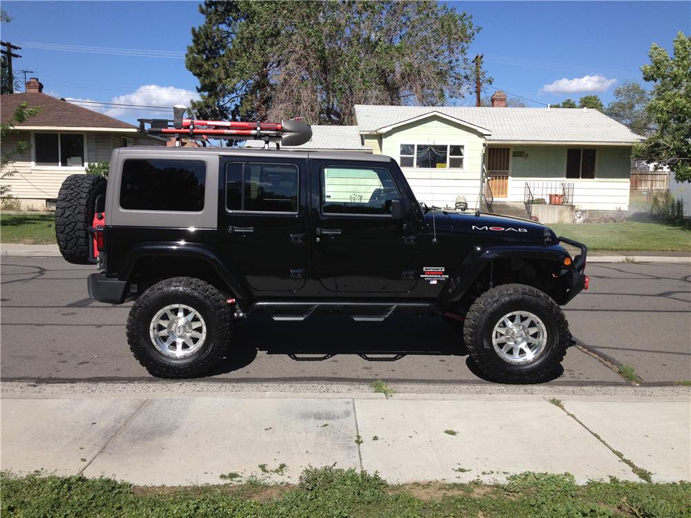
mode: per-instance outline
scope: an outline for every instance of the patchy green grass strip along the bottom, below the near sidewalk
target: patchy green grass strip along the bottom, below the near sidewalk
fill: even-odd
[[[569,474],[523,473],[497,486],[479,482],[389,486],[377,474],[334,468],[309,468],[298,486],[269,486],[249,479],[225,486],[142,488],[103,478],[3,473],[0,513],[3,517],[691,517],[690,483],[612,479],[577,486]]]

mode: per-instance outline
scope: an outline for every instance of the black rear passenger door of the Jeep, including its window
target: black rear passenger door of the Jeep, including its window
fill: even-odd
[[[305,285],[306,161],[225,157],[220,164],[219,241],[253,291]]]

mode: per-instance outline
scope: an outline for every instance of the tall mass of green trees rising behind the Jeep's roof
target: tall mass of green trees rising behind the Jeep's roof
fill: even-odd
[[[202,117],[352,124],[357,103],[438,105],[474,86],[466,53],[480,29],[444,4],[205,1],[200,12],[186,64]]]

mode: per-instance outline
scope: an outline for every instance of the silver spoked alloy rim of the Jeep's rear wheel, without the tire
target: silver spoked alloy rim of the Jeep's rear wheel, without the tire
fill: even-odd
[[[187,358],[196,353],[207,337],[204,318],[189,306],[171,304],[151,319],[151,342],[170,358]]]

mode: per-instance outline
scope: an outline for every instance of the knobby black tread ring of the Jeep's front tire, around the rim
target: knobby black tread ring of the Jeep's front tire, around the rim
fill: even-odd
[[[543,362],[535,370],[530,372],[517,372],[514,374],[499,370],[492,361],[492,349],[484,347],[484,329],[486,318],[500,304],[507,300],[520,298],[523,300],[533,300],[547,311],[554,318],[558,330],[558,342],[556,350],[551,353],[549,361]],[[499,383],[540,383],[562,362],[569,346],[569,323],[559,305],[547,294],[539,289],[521,284],[500,285],[489,289],[478,297],[466,314],[464,322],[464,338],[468,352],[477,363],[478,367],[494,381]]]

